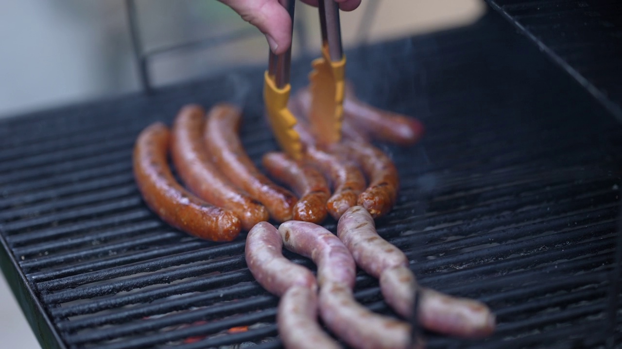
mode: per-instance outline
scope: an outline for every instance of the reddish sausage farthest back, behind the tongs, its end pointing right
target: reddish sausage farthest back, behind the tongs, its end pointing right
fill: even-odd
[[[309,114],[311,93],[308,88],[301,89],[293,100],[298,112],[305,116]],[[412,117],[383,111],[361,102],[356,98],[351,84],[346,84],[341,132],[345,138],[356,141],[366,141],[371,137],[407,146],[416,143],[422,137],[424,126]]]

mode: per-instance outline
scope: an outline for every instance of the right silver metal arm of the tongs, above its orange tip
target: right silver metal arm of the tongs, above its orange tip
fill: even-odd
[[[341,46],[339,4],[333,0],[320,0],[318,5],[322,45],[328,45],[331,61],[340,61],[343,58],[343,47]]]

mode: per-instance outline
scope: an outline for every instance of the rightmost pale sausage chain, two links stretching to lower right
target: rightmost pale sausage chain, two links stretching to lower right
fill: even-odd
[[[356,264],[380,279],[385,301],[398,314],[412,314],[415,277],[408,258],[376,232],[374,220],[363,207],[349,209],[337,224],[337,235],[352,253]],[[419,288],[418,319],[429,330],[462,337],[480,337],[494,330],[494,315],[485,304]]]

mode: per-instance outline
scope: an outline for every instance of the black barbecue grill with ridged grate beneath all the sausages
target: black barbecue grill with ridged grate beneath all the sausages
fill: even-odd
[[[497,314],[490,338],[425,333],[430,348],[620,347],[622,6],[490,4],[499,11],[473,25],[347,52],[361,99],[427,129],[414,147],[379,145],[402,188],[378,232],[421,284]],[[294,63],[294,86],[308,66]],[[277,147],[262,70],[2,120],[0,264],[43,347],[281,347],[278,300],[246,268],[244,235],[210,243],[172,229],[131,170],[144,127],[240,84],[241,138],[259,165]],[[355,295],[392,314],[361,271]]]

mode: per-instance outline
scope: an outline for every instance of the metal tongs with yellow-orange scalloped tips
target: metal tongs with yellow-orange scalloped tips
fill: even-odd
[[[295,1],[279,0],[289,12],[292,28]],[[337,2],[320,0],[318,5],[322,27],[322,57],[313,60],[313,71],[309,74],[312,96],[309,122],[317,142],[329,145],[341,140],[346,58],[341,45]],[[291,58],[291,48],[281,55],[270,52],[268,70],[264,76],[264,102],[269,122],[282,150],[292,158],[300,159],[302,143],[294,129],[297,121],[287,108],[291,90]]]

